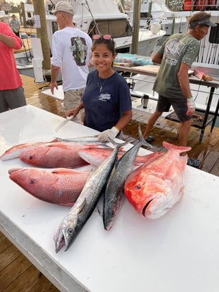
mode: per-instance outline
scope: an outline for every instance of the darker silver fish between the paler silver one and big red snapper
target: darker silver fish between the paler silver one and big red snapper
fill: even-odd
[[[141,127],[139,126],[139,142],[117,161],[106,185],[103,208],[104,229],[106,230],[111,229],[122,206],[125,198],[124,183],[135,167],[135,158],[142,144],[148,146],[148,143],[142,137]]]

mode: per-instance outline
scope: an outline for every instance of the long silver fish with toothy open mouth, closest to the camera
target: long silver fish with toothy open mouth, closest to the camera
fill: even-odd
[[[84,227],[84,224],[93,213],[113,169],[119,148],[126,143],[116,144],[113,142],[113,144],[115,144],[115,149],[100,166],[93,170],[76,203],[71,207],[71,210],[58,228],[54,236],[56,253],[63,246],[65,246],[65,251],[69,248],[70,243],[78,236],[82,227]]]

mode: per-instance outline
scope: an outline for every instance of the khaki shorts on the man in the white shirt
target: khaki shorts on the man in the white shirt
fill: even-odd
[[[74,109],[78,104],[80,104],[82,100],[82,94],[84,93],[84,88],[82,89],[72,89],[69,91],[66,91],[64,93],[64,109],[65,113],[69,111],[70,109]],[[74,119],[74,122],[81,122],[81,113],[79,112],[76,118]]]

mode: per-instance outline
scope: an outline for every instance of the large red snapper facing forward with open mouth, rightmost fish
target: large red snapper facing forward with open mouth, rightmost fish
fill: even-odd
[[[181,153],[191,150],[168,142],[163,146],[168,151],[130,173],[124,185],[128,201],[141,216],[150,219],[163,216],[181,199],[187,164],[187,155]]]

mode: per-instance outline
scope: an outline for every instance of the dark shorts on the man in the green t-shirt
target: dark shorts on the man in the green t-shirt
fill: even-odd
[[[180,122],[185,122],[192,119],[191,115],[187,115],[187,100],[185,96],[178,96],[178,98],[165,98],[159,95],[157,102],[157,111],[170,111],[170,106],[174,111]]]

